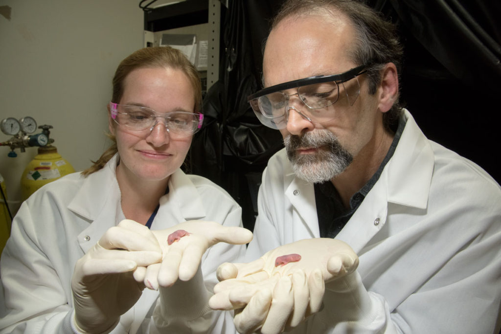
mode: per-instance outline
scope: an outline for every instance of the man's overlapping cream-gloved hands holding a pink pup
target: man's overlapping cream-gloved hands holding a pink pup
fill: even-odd
[[[318,312],[324,284],[334,289],[344,286],[357,266],[358,256],[340,240],[299,240],[250,263],[220,265],[217,276],[221,282],[214,287],[209,305],[237,309],[234,322],[240,333],[258,329],[279,333]]]

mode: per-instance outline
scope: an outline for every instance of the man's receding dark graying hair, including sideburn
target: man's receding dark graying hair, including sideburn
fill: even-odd
[[[384,20],[380,13],[355,0],[287,0],[282,4],[272,21],[273,30],[282,20],[325,13],[342,13],[347,16],[357,33],[357,40],[349,57],[359,66],[370,64],[367,68],[369,93],[376,93],[381,81],[381,70],[387,63],[395,64],[400,74],[403,48],[398,40],[396,27]],[[329,32],[326,32],[328,34]],[[396,123],[400,114],[398,99],[392,108],[383,114],[387,129]]]

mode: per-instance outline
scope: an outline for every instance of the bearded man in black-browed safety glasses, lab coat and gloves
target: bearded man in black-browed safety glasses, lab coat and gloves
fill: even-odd
[[[236,278],[211,299],[240,332],[498,332],[499,185],[398,106],[401,55],[354,1],[290,0],[273,21],[249,102],[286,148],[263,174],[261,258],[221,266]]]

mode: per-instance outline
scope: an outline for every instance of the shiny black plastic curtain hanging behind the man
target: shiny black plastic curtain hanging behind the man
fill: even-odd
[[[484,168],[497,182],[501,107],[501,2],[371,0],[404,45],[401,101],[424,134]],[[253,229],[261,173],[283,147],[246,97],[261,88],[262,45],[279,0],[229,0],[223,9],[220,80],[203,101],[190,170],[226,189]]]

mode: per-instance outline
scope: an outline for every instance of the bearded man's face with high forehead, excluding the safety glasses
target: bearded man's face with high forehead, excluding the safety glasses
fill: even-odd
[[[355,43],[354,28],[344,16],[305,16],[282,21],[270,34],[264,54],[265,86],[319,75],[341,74],[360,64],[348,57]],[[351,105],[344,89],[360,84]],[[342,173],[364,150],[373,147],[377,127],[382,128],[377,101],[367,92],[365,75],[340,86],[340,98],[326,107],[335,117],[313,123],[300,113],[306,107],[297,96],[289,101],[287,127],[280,130],[296,174],[310,182],[323,182]],[[286,94],[295,94],[291,89]]]

